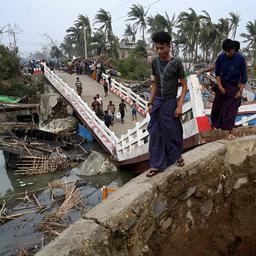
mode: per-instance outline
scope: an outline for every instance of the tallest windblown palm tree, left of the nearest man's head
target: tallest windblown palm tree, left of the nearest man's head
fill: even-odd
[[[145,11],[143,6],[140,4],[133,4],[130,8],[131,10],[128,12],[129,19],[127,21],[134,21],[133,29],[140,29],[142,32],[142,40],[145,43],[145,29],[147,27],[146,24],[146,16],[148,11]]]

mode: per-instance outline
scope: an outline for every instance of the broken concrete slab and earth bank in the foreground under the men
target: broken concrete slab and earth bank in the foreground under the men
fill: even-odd
[[[256,235],[255,155],[256,136],[189,151],[184,167],[141,174],[36,255],[226,255]]]

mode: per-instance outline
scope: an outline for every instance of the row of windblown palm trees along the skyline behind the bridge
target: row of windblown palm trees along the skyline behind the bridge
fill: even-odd
[[[212,62],[221,51],[222,41],[228,37],[236,38],[237,28],[240,23],[240,14],[230,11],[226,17],[220,17],[213,21],[210,14],[202,10],[196,12],[194,9],[182,11],[177,16],[163,14],[148,14],[148,10],[141,4],[133,4],[127,13],[127,24],[123,29],[123,37],[117,38],[112,29],[111,13],[99,9],[95,15],[92,28],[90,20],[86,15],[79,15],[74,25],[67,29],[67,35],[61,44],[62,51],[68,57],[84,56],[83,27],[86,28],[88,55],[104,55],[112,59],[119,57],[119,43],[127,49],[134,49],[128,60],[120,61],[121,66],[126,63],[129,67],[129,75],[125,70],[123,74],[128,76],[134,74],[130,63],[132,57],[143,60],[146,58],[146,48],[152,46],[150,38],[156,31],[167,31],[171,35],[172,54],[181,57],[189,63]],[[246,32],[241,36],[245,39],[247,47],[244,53],[256,64],[256,21],[249,21]],[[141,36],[143,45],[136,42],[138,34]],[[147,37],[149,40],[147,40]],[[136,64],[136,63],[133,63]],[[135,72],[136,73],[136,72]],[[136,75],[135,75],[136,76]]]

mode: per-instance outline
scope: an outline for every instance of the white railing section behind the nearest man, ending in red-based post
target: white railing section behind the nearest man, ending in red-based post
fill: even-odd
[[[199,132],[211,130],[208,117],[205,115],[202,101],[202,87],[196,75],[188,77],[189,100],[182,107],[182,126],[183,139],[188,139]],[[178,97],[181,94],[181,88],[178,90]],[[148,152],[149,134],[147,125],[149,115],[136,127],[128,130],[126,135],[122,135],[117,142],[117,158],[119,161],[139,157]]]

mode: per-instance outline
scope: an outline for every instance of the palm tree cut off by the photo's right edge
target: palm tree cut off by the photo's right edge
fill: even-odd
[[[245,38],[243,42],[248,43],[247,48],[248,51],[252,53],[252,68],[254,68],[256,64],[256,20],[253,22],[249,21],[246,24],[246,31],[247,33],[242,33],[241,36]]]

